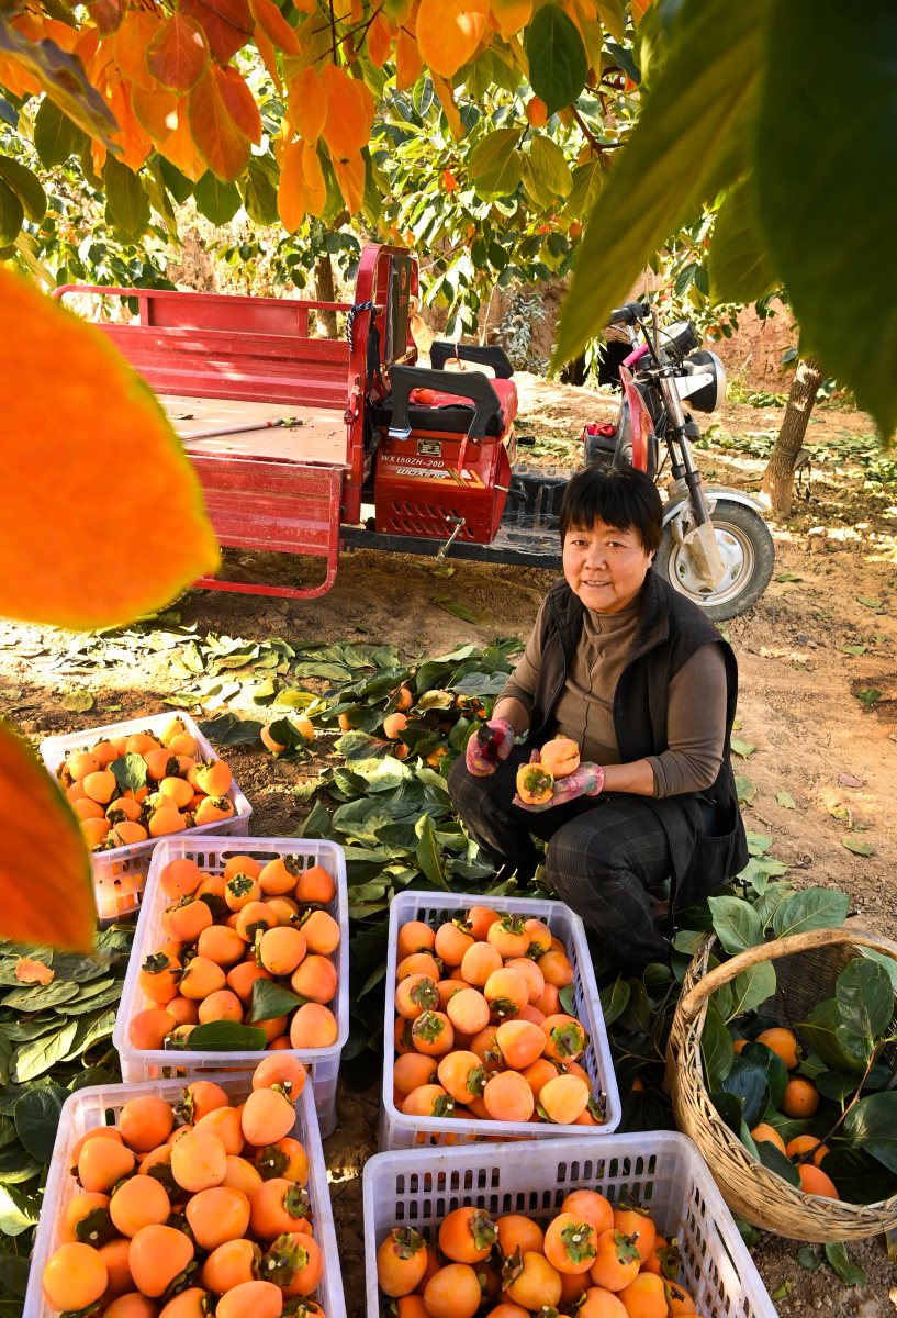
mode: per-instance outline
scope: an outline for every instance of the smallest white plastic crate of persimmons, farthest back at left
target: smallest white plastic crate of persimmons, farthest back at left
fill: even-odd
[[[50,774],[55,778],[59,764],[72,751],[90,750],[104,737],[161,733],[173,718],[179,718],[190,735],[196,739],[202,759],[221,758],[205,741],[190,714],[182,709],[171,709],[167,714],[151,714],[149,718],[132,718],[125,724],[109,724],[105,728],[87,728],[84,731],[67,733],[65,737],[49,737],[41,742],[41,755]],[[231,784],[231,789],[225,795],[233,801],[233,815],[229,820],[221,820],[219,824],[200,824],[199,828],[184,829],[184,834],[188,837],[196,837],[196,834],[203,837],[246,837],[249,834],[249,816],[253,812],[252,805],[236,783]],[[178,833],[177,836],[184,834]],[[146,842],[134,842],[132,846],[117,846],[113,851],[91,853],[96,909],[104,928],[140,908],[153,849],[159,841],[159,838],[149,838]]]

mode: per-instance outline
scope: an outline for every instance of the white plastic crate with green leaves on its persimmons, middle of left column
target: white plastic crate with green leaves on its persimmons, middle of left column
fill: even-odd
[[[290,1049],[311,1072],[315,1087],[317,1122],[323,1137],[336,1126],[336,1078],[340,1053],[349,1037],[349,904],[345,884],[345,855],[335,842],[306,841],[299,837],[194,838],[188,832],[162,838],[153,853],[146,894],[137,920],[134,942],[128,961],[128,974],[121,992],[121,1006],[116,1016],[112,1043],[121,1057],[121,1077],[130,1082],[167,1075],[196,1079],[209,1070],[252,1070],[259,1053],[169,1052],[163,1049],[136,1049],[130,1044],[130,1021],[140,1011],[153,1006],[140,987],[140,967],[146,957],[167,941],[162,928],[162,913],[170,903],[159,884],[159,873],[169,861],[195,861],[207,874],[220,874],[232,855],[252,855],[262,865],[273,855],[295,855],[300,869],[323,865],[333,875],[336,895],[327,908],[340,925],[340,945],[333,953],[337,973],[336,1002],[331,1011],[336,1016],[339,1033],[329,1048]],[[329,1318],[329,1315],[328,1315]]]

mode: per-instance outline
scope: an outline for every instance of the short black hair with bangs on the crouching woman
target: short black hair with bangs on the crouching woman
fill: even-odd
[[[590,531],[598,521],[615,526],[618,531],[638,531],[645,551],[653,554],[664,534],[664,511],[657,486],[635,467],[607,469],[597,463],[585,467],[570,478],[564,490],[561,544],[568,531]]]

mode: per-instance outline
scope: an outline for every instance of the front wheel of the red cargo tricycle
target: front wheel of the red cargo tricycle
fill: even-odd
[[[655,571],[680,594],[699,605],[711,622],[724,622],[749,609],[767,589],[776,565],[776,548],[767,523],[744,503],[717,500],[713,525],[726,564],[726,576],[715,590],[699,576],[690,552],[676,543],[670,526],[664,529]]]

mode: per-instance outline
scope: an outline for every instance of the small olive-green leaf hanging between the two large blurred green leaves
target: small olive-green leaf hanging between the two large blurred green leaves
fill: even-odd
[[[717,211],[710,252],[710,301],[756,302],[776,286],[765,239],[756,216],[753,179],[748,174],[730,191]],[[778,581],[800,581],[786,573]]]

